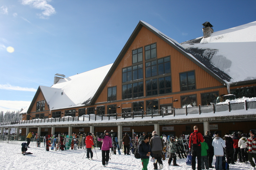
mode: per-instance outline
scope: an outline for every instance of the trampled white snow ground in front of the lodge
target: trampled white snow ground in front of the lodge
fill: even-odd
[[[30,142],[30,147],[27,152],[31,155],[21,154],[22,141],[9,141],[9,143],[0,142],[1,159],[0,167],[2,170],[31,170],[31,169],[47,169],[47,170],[138,170],[142,169],[140,159],[136,159],[131,155],[112,155],[111,160],[106,168],[103,168],[101,163],[101,150],[97,148],[93,150],[93,159],[87,160],[85,157],[85,150],[50,150],[45,151],[45,148],[37,148],[34,142]],[[97,156],[95,154],[97,153]],[[83,158],[83,159],[82,159]],[[163,161],[164,170],[184,170],[191,169],[191,166],[186,165],[186,159],[177,159],[177,164],[180,166],[168,166],[168,159]],[[215,157],[213,165],[215,163]],[[159,166],[158,166],[159,168]],[[248,170],[251,169],[249,163],[230,164],[230,170]],[[153,163],[150,162],[148,169],[153,169]],[[210,170],[213,168],[210,168]]]

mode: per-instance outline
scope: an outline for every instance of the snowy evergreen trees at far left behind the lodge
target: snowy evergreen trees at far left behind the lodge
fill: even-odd
[[[21,108],[20,111],[0,111],[0,122],[15,122],[15,121],[21,121],[22,120],[22,115],[20,112],[23,111]]]

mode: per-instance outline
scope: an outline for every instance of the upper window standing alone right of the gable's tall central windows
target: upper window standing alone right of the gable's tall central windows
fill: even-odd
[[[180,73],[181,91],[196,89],[195,71]]]

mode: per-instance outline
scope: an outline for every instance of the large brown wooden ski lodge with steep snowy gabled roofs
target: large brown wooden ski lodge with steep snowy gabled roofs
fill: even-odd
[[[133,130],[138,134],[156,130],[159,135],[180,136],[190,134],[194,125],[199,127],[202,134],[209,129],[212,134],[216,130],[222,135],[233,131],[247,133],[249,129],[255,129],[256,109],[244,110],[243,113],[230,111],[228,115],[219,112],[216,116],[198,113],[192,117],[131,118],[141,112],[144,115],[151,115],[152,111],[163,114],[165,110],[173,113],[173,108],[212,105],[218,96],[229,92],[237,98],[256,97],[256,76],[244,73],[248,77],[241,76],[240,79],[232,74],[232,70],[239,68],[232,68],[235,61],[228,58],[231,54],[225,56],[225,50],[223,53],[225,45],[216,48],[218,42],[210,42],[210,38],[217,39],[224,35],[221,31],[214,34],[212,27],[205,22],[203,37],[179,44],[148,23],[139,21],[113,64],[68,78],[56,74],[54,85],[40,85],[30,106],[21,112],[23,122],[64,116],[70,117],[70,120],[80,117],[79,120],[0,126],[2,129],[21,128],[22,135],[35,132],[40,136],[58,133],[71,135],[72,132],[102,133],[106,129],[116,132],[119,138],[125,132],[131,135]],[[253,28],[255,35],[256,27]],[[232,31],[230,34],[236,30]],[[248,34],[246,29],[244,32]],[[226,37],[227,34],[225,32]],[[248,50],[255,45],[255,41],[256,38],[251,44],[248,43]],[[237,49],[236,46],[233,48]],[[237,49],[232,55],[239,56],[240,53],[244,55],[240,57],[249,60],[246,57],[250,57],[250,51]],[[223,56],[220,57],[220,54]],[[254,60],[249,62],[255,65]],[[120,118],[80,122],[83,115]]]

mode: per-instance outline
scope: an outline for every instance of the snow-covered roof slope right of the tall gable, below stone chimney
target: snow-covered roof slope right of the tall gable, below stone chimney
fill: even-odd
[[[256,79],[256,21],[181,44],[229,75],[227,83]]]

